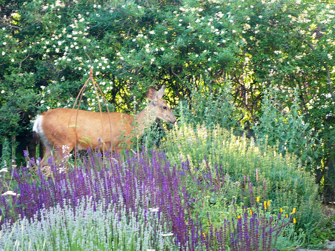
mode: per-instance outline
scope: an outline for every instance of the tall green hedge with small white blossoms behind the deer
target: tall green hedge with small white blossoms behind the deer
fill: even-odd
[[[165,84],[175,106],[200,98],[201,88],[220,97],[229,83],[235,123],[252,127],[268,107],[264,90],[273,89],[278,114],[304,115],[313,133],[311,169],[334,197],[333,2],[32,0],[1,1],[0,8],[0,135],[26,135],[38,112],[71,107],[90,67],[111,110],[129,113],[143,107],[150,84]],[[97,110],[93,91],[82,108]],[[198,115],[213,112],[211,104]],[[267,123],[276,127],[273,119]]]

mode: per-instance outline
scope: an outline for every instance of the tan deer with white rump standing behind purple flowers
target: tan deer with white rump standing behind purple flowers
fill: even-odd
[[[129,148],[133,136],[140,137],[156,118],[174,124],[177,119],[162,99],[164,91],[165,85],[158,91],[150,85],[146,93],[150,102],[135,115],[71,108],[50,109],[37,115],[32,131],[36,142],[40,139],[43,143],[44,157],[40,165],[45,165],[55,151],[63,156],[64,147],[69,153],[74,148],[87,150],[101,148],[103,144],[103,149],[110,146],[111,151],[120,152]]]

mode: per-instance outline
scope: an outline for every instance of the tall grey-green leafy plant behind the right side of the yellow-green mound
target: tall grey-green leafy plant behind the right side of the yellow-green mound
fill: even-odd
[[[277,96],[276,91],[265,91],[262,114],[254,126],[255,137],[271,146],[279,144],[282,154],[288,151],[300,157],[304,164],[310,163],[311,159],[317,157],[317,152],[313,152],[317,135],[305,123],[305,116],[299,114],[300,100],[297,93],[287,111],[276,109]]]

